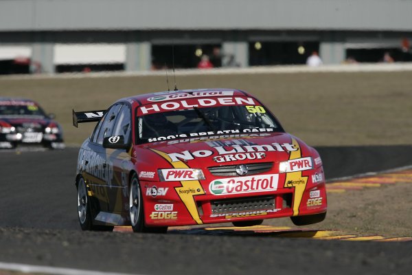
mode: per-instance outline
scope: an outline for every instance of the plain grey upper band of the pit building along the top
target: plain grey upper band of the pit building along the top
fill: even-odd
[[[0,32],[412,30],[409,0],[2,0]]]

